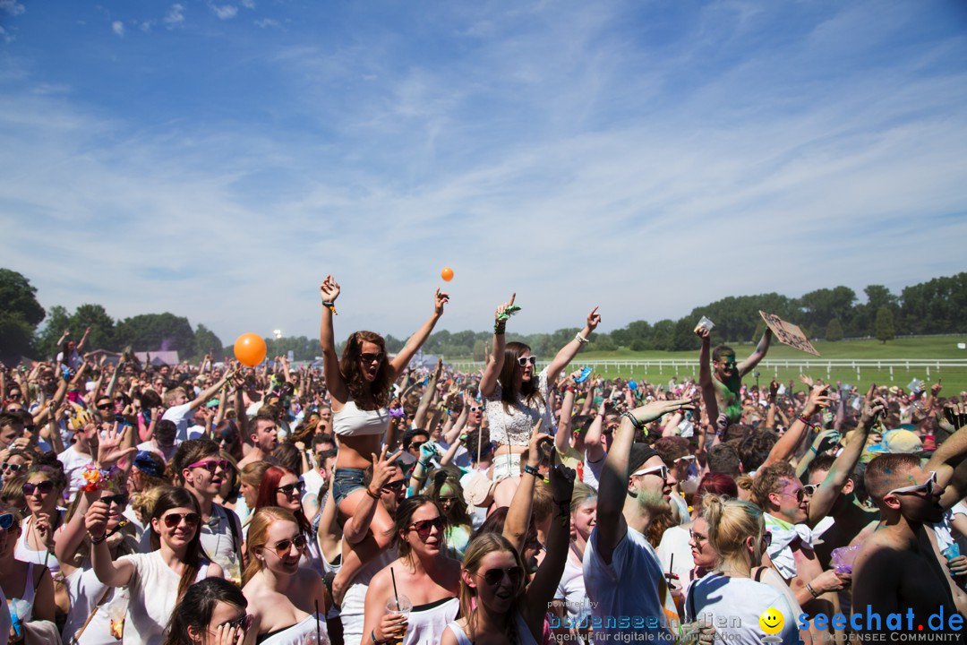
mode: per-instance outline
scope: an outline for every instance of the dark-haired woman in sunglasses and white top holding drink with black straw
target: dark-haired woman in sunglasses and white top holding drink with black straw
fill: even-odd
[[[364,639],[368,633],[375,643],[399,642],[398,634],[404,633],[402,645],[440,642],[460,604],[460,563],[447,555],[445,529],[446,520],[429,497],[399,503],[394,531],[399,558],[369,581]],[[397,592],[413,605],[409,619],[387,611]]]

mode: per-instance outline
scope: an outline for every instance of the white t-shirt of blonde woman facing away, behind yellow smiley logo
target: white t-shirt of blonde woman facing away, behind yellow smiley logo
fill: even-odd
[[[710,573],[691,585],[685,600],[687,620],[711,624],[723,642],[741,645],[761,645],[766,636],[773,635],[759,626],[759,617],[769,608],[780,612],[784,621],[775,635],[783,645],[796,645],[797,616],[782,592],[767,584]],[[723,620],[717,622],[716,618]]]

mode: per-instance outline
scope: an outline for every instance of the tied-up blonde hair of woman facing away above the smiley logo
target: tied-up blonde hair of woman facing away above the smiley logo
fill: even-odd
[[[753,538],[750,564],[762,561],[762,538],[766,522],[762,510],[751,502],[729,499],[723,495],[706,495],[702,500],[702,517],[709,524],[709,542],[718,553],[718,566],[726,562],[746,561],[746,540]]]

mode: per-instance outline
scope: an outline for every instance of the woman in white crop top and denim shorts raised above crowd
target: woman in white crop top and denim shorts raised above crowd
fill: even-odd
[[[339,292],[339,285],[332,276],[327,276],[319,287],[323,305],[319,342],[322,345],[326,387],[332,401],[333,431],[339,436],[336,468],[333,471],[333,495],[339,519],[344,522],[342,530],[346,542],[350,545],[363,542],[370,535],[371,528],[375,548],[383,550],[390,543],[393,519],[379,504],[379,492],[366,488],[364,472],[373,465],[375,455],[380,453],[390,425],[387,409],[390,388],[433,331],[450,296],[437,289],[433,314],[393,360],[387,356],[386,341],[372,332],[354,332],[350,335],[340,360],[336,354],[333,332],[333,314],[336,312]],[[358,555],[346,558],[333,582],[333,595],[337,603],[342,600],[342,593],[362,566],[362,559]]]

